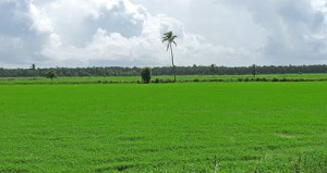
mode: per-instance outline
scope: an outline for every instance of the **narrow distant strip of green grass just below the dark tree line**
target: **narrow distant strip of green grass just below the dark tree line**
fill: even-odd
[[[170,79],[172,76],[152,76],[152,81]],[[239,82],[240,79],[251,81],[252,75],[182,75],[178,76],[178,82],[194,82],[194,81],[220,81],[220,82]],[[256,78],[266,78],[271,81],[278,79],[316,79],[327,81],[327,74],[262,74],[256,75]],[[45,84],[101,84],[101,83],[138,83],[141,76],[105,76],[105,77],[58,77],[53,81],[45,77],[0,77],[0,85],[24,84],[24,85],[45,85]]]

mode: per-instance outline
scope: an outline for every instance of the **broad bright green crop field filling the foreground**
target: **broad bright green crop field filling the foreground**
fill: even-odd
[[[326,173],[326,82],[0,85],[0,172]]]

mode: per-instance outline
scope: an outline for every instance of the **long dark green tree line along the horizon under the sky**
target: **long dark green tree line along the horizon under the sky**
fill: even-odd
[[[327,73],[327,65],[284,65],[284,66],[216,66],[193,65],[152,67],[152,75],[251,75],[256,74],[289,74],[289,73]],[[142,67],[50,67],[39,69],[32,65],[31,69],[3,69],[0,67],[0,77],[45,77],[49,71],[56,72],[57,76],[140,76]]]

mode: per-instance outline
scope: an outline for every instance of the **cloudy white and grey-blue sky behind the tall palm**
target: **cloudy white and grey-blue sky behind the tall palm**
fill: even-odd
[[[326,0],[0,0],[0,67],[327,64]]]

